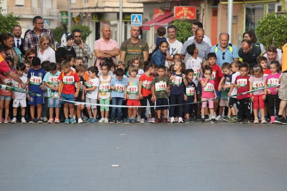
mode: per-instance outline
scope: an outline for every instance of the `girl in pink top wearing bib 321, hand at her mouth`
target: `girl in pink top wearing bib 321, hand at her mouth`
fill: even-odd
[[[210,63],[210,62],[209,62]],[[207,107],[207,102],[208,101],[208,107],[210,109],[210,114],[211,114],[211,123],[217,123],[216,119],[214,117],[214,102],[212,99],[216,99],[216,91],[214,89],[215,82],[212,80],[212,69],[208,66],[206,66],[203,69],[204,72],[204,78],[201,78],[201,87],[202,87],[202,93],[201,93],[201,101],[202,102],[202,107],[201,107],[201,121],[200,123],[205,123],[205,108]]]

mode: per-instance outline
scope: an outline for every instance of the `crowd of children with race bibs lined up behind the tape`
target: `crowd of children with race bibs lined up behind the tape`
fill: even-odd
[[[261,120],[264,124],[270,120],[270,123],[287,124],[283,117],[287,104],[283,87],[287,76],[285,72],[280,74],[277,61],[267,68],[267,59],[259,56],[253,68],[240,61],[226,62],[220,67],[216,64],[216,54],[209,53],[207,60],[202,60],[197,57],[196,45],[191,44],[187,47],[191,55],[187,62],[174,54],[174,64],[168,68],[162,59],[166,47],[167,42],[160,41],[156,50],[160,56],[153,54],[151,58],[154,63],[142,63],[139,57],[134,57],[126,67],[124,62],[115,64],[112,59],[103,58],[100,71],[94,66],[86,68],[81,57],[69,55],[61,64],[41,63],[37,57],[32,62],[19,63],[14,72],[27,84],[24,89],[50,98],[1,89],[0,116],[5,112],[0,123],[9,123],[11,112],[11,123],[26,123],[27,118],[29,123],[43,123],[42,116],[49,117],[44,121],[47,123],[60,123],[62,117],[65,124],[145,123],[145,120],[191,123],[195,119],[200,123],[208,120],[251,123],[254,116],[253,123]],[[13,60],[7,62],[13,64]],[[7,86],[22,88],[7,75],[1,74],[0,80]],[[250,90],[256,91],[245,93]]]

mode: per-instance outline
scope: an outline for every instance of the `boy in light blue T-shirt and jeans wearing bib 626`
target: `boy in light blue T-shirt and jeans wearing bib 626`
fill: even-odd
[[[112,104],[120,106],[123,104],[123,100],[127,97],[127,80],[123,78],[125,71],[123,68],[118,68],[115,71],[116,77],[110,82],[110,88],[112,90]],[[121,107],[112,107],[110,123],[122,123],[122,109]]]

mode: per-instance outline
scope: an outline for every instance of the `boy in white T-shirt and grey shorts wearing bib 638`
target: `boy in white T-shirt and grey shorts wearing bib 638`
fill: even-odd
[[[88,68],[88,73],[89,73],[89,77],[90,80],[85,82],[85,86],[84,86],[84,90],[87,91],[86,93],[86,103],[97,103],[97,99],[98,99],[98,90],[99,90],[99,86],[100,86],[100,80],[98,78],[98,67],[96,66],[92,66],[90,68]],[[98,114],[98,110],[97,110],[97,106],[96,105],[88,105],[86,104],[86,108],[89,114],[89,119],[86,121],[86,123],[96,123],[97,122],[97,114]],[[94,113],[94,117],[92,115],[92,110],[93,109],[93,113]]]

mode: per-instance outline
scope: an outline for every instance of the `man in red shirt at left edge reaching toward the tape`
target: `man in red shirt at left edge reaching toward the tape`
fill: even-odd
[[[7,58],[8,55],[9,55],[9,47],[6,46],[5,44],[1,44],[0,45],[0,72],[2,72],[2,74],[9,74],[9,76],[13,80],[21,84],[22,88],[26,87],[26,85],[22,82],[19,76],[17,76],[17,74],[15,74],[14,72],[12,72],[11,68],[5,61],[5,58]]]

